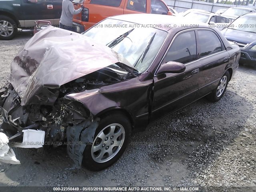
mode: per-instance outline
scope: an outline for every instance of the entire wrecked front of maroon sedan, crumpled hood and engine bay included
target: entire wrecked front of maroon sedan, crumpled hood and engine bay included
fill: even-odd
[[[81,34],[49,26],[33,36],[12,61],[8,85],[0,89],[1,127],[11,135],[9,142],[33,148],[30,142],[43,141],[34,145],[39,148],[67,140],[68,154],[80,167],[100,119],[70,95],[86,98],[135,77],[138,71],[123,62],[127,61],[109,47]]]

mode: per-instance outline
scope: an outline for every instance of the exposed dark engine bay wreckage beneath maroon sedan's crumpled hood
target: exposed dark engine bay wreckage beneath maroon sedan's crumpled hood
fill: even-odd
[[[83,92],[84,90],[92,90],[102,86],[113,84],[122,79],[122,75],[118,75],[111,68],[104,68],[82,76],[68,82],[59,89],[54,90],[57,96],[53,105],[32,104],[21,106],[20,96],[14,90],[12,84],[8,84],[4,89],[0,90],[0,106],[4,123],[2,127],[8,133],[14,135],[10,138],[12,142],[22,142],[22,130],[35,129],[45,132],[44,144],[58,146],[65,142],[67,138],[70,140],[70,134],[73,136],[80,127],[80,132],[85,128],[94,125],[94,131],[97,128],[99,119],[93,119],[88,110],[82,107],[79,101],[70,101],[65,98],[71,93]],[[89,130],[89,129],[88,129]],[[68,137],[67,137],[68,132]],[[93,138],[94,134],[90,136]],[[78,138],[80,134],[78,134]],[[73,138],[74,139],[74,138]],[[90,141],[92,142],[92,141]],[[81,159],[82,160],[82,159]],[[81,161],[79,160],[79,161]],[[79,162],[80,164],[81,162]],[[77,167],[80,165],[77,164]]]

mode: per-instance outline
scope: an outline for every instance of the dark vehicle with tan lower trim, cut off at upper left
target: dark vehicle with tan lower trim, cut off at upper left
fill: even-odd
[[[62,0],[0,0],[0,40],[10,40],[18,28],[34,27],[36,20],[58,25]]]

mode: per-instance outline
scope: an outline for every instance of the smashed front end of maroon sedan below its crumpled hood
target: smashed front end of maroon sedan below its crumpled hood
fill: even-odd
[[[10,146],[39,148],[66,143],[76,167],[81,166],[82,152],[88,142],[93,142],[99,119],[94,120],[79,101],[62,97],[52,106],[21,106],[20,96],[11,84],[0,91],[1,128],[8,134]],[[27,130],[34,132],[28,134]],[[43,133],[43,140],[39,133]]]

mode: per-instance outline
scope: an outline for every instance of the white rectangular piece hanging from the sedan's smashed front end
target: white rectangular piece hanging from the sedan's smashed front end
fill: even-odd
[[[25,129],[22,143],[16,143],[15,147],[20,148],[40,148],[44,145],[45,132],[42,130]]]

